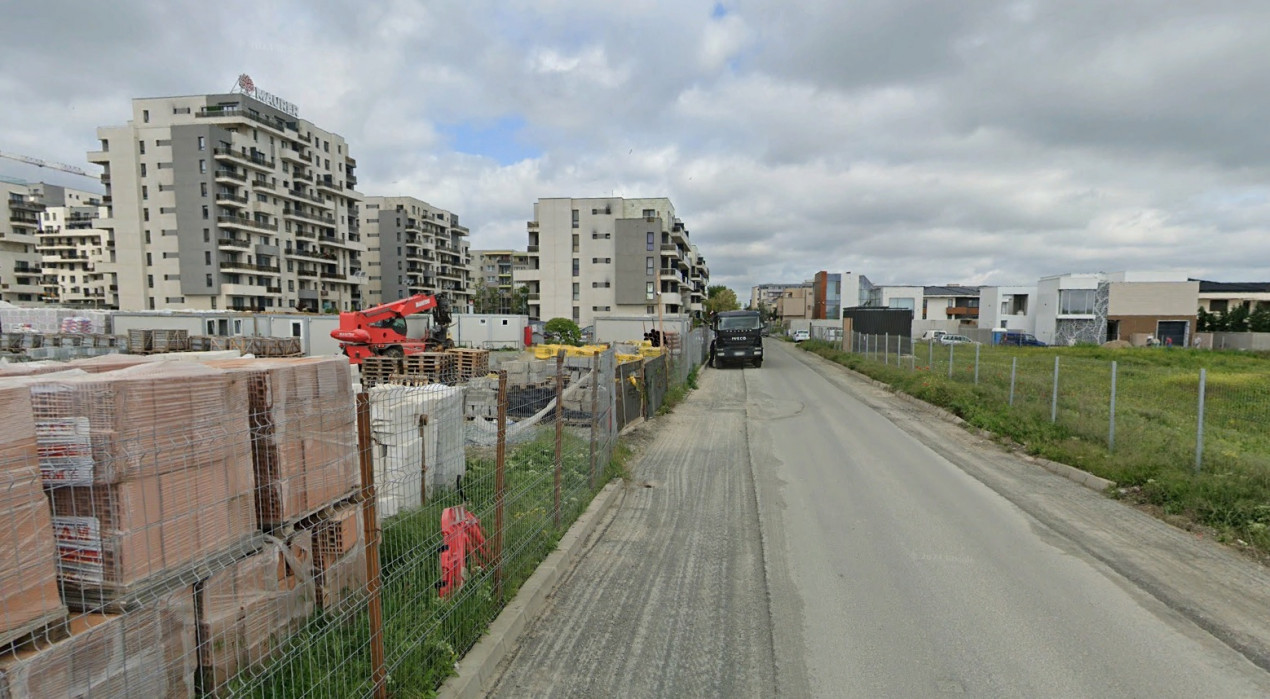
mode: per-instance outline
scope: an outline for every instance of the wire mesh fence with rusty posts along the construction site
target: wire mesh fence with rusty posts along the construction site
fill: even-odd
[[[10,370],[0,695],[434,690],[677,367],[488,356]]]

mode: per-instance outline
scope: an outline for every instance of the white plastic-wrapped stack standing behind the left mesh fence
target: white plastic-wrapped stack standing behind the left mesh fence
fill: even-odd
[[[380,517],[419,507],[466,470],[464,389],[384,385],[370,390]]]

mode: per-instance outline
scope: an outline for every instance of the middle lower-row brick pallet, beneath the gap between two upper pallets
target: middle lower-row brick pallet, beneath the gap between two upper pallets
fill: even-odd
[[[277,655],[314,611],[312,533],[273,539],[203,583],[198,649],[203,693]]]

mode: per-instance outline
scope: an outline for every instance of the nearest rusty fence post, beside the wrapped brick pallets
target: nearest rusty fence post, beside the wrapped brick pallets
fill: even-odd
[[[389,666],[384,655],[384,601],[380,590],[380,522],[376,512],[371,444],[371,397],[357,394],[357,454],[362,470],[362,538],[366,541],[366,606],[371,621],[371,681],[376,699],[387,699]]]

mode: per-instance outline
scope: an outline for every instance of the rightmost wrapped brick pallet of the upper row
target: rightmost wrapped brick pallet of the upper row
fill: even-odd
[[[348,360],[229,360],[207,366],[248,379],[262,529],[295,524],[353,496],[361,480]]]

